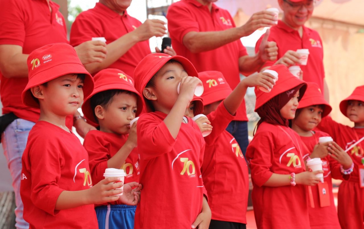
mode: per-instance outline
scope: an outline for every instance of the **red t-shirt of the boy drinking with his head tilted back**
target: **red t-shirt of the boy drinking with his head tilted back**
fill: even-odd
[[[191,228],[201,213],[204,193],[201,165],[205,141],[188,118],[174,139],[163,122],[166,114],[150,112],[137,123],[143,185],[135,212],[135,229]]]

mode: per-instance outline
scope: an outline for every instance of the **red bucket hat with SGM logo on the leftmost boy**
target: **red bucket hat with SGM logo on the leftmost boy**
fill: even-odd
[[[48,44],[37,48],[27,59],[29,81],[21,94],[23,104],[39,108],[30,88],[67,74],[85,74],[83,95],[86,98],[94,90],[94,79],[78,58],[75,49],[66,43]]]

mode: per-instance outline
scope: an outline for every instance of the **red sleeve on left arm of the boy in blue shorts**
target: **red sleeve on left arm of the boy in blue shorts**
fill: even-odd
[[[88,164],[90,166],[91,178],[94,183],[104,179],[104,172],[107,169],[108,149],[104,146],[101,136],[95,134],[98,130],[91,130],[87,133],[83,146],[88,153]]]

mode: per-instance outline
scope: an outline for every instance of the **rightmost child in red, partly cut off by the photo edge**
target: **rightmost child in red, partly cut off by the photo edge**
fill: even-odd
[[[340,102],[340,111],[354,123],[349,127],[337,123],[327,116],[322,119],[318,129],[328,133],[337,144],[345,149],[353,160],[353,167],[343,170],[350,174],[348,181],[343,181],[337,195],[337,213],[341,228],[363,229],[364,216],[364,86],[356,87],[353,93]],[[332,153],[333,158],[340,155]]]

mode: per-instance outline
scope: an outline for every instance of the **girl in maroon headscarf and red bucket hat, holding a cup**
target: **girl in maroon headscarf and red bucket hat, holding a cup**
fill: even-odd
[[[251,169],[252,200],[257,227],[310,227],[306,185],[316,185],[315,172],[305,171],[304,148],[300,136],[288,126],[307,84],[279,64],[269,68],[278,80],[269,93],[255,89],[255,111],[260,116],[257,132],[246,151]]]

